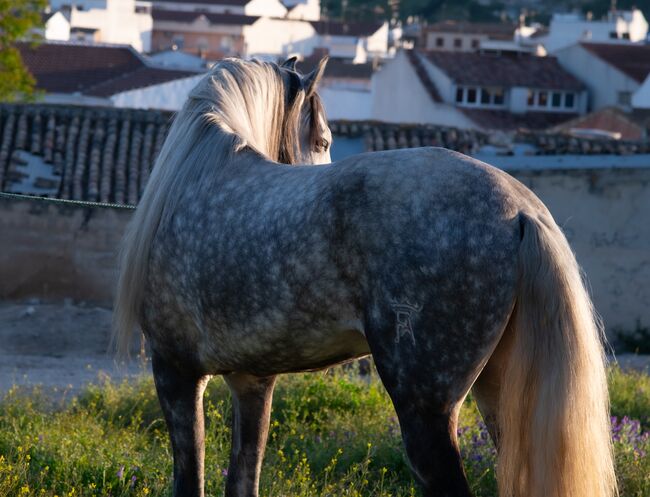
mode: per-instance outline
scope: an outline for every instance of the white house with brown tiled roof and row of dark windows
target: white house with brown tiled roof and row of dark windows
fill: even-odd
[[[459,128],[546,128],[583,114],[584,85],[553,57],[400,51],[373,76],[373,119]]]

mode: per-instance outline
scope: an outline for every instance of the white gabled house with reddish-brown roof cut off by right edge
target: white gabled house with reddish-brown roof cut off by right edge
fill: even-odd
[[[568,72],[589,88],[590,109],[648,107],[644,81],[650,74],[650,46],[576,43],[555,54]]]

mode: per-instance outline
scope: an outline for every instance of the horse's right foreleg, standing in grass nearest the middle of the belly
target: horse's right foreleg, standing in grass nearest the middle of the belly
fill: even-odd
[[[233,406],[226,497],[257,497],[276,377],[231,373],[224,378]]]

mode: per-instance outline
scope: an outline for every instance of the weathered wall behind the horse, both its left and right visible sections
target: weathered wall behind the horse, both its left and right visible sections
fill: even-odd
[[[650,168],[510,172],[563,227],[608,330],[650,324]],[[131,212],[0,198],[0,298],[109,302]]]

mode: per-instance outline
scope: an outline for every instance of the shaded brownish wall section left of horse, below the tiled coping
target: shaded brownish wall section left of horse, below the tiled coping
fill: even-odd
[[[110,303],[132,212],[0,198],[0,299]]]

